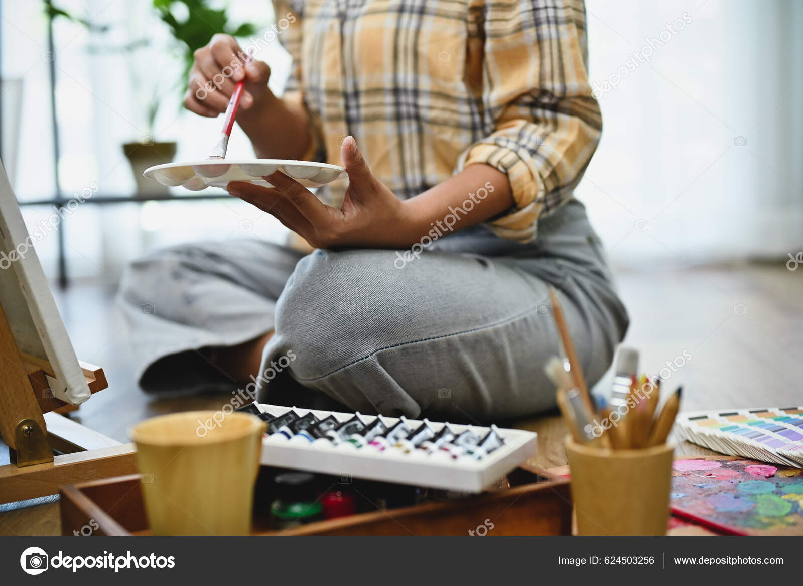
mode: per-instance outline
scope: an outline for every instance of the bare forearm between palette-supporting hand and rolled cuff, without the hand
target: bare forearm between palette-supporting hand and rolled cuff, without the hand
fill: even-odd
[[[403,202],[407,221],[405,234],[400,236],[410,245],[430,235],[430,230],[436,234],[457,232],[491,219],[515,203],[506,174],[489,165],[467,166]]]

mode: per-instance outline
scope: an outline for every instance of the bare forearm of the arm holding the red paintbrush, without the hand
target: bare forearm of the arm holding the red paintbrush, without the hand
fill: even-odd
[[[312,137],[307,113],[293,102],[267,91],[250,109],[240,109],[237,122],[254,145],[259,158],[300,159],[309,149]]]

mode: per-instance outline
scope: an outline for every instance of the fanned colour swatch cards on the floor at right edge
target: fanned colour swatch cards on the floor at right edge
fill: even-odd
[[[803,468],[803,407],[683,413],[679,436],[730,456]]]

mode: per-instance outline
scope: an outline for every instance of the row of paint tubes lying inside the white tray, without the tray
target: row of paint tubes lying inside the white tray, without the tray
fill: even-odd
[[[426,419],[415,426],[405,416],[392,425],[381,416],[365,423],[359,412],[345,422],[331,415],[319,420],[313,412],[300,416],[295,408],[282,415],[262,412],[258,416],[267,423],[267,438],[273,437],[279,442],[295,441],[302,445],[320,441],[347,449],[350,446],[355,449],[370,446],[380,452],[385,449],[397,449],[403,453],[423,450],[428,454],[443,452],[453,459],[471,457],[479,461],[504,444],[495,425],[480,435],[472,429],[454,432],[448,423],[435,431]]]

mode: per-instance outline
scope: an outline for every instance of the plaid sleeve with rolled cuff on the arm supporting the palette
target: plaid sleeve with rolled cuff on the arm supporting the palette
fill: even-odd
[[[507,174],[516,205],[488,225],[504,238],[532,240],[538,218],[572,197],[601,134],[585,6],[488,2],[476,34],[483,37],[473,52],[482,60],[483,117],[491,132],[463,151],[455,172],[484,163]]]

